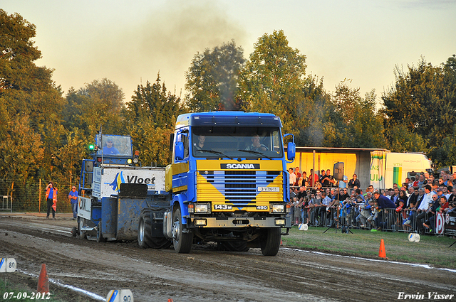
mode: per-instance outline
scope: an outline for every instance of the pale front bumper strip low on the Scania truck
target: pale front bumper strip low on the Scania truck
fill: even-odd
[[[291,227],[290,217],[190,217],[192,227]]]

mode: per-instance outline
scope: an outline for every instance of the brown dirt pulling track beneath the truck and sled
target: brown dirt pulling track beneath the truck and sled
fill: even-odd
[[[1,216],[0,257],[14,257],[32,274],[46,263],[49,278],[102,297],[129,288],[138,302],[397,301],[400,292],[424,293],[426,301],[427,292],[456,294],[456,273],[442,269],[286,248],[276,257],[259,249],[219,252],[209,244],[175,254],[136,242],[77,239],[73,226],[69,218]]]

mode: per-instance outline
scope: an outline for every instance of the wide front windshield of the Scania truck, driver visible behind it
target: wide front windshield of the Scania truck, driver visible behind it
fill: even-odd
[[[281,158],[284,156],[279,128],[193,127],[195,157]]]

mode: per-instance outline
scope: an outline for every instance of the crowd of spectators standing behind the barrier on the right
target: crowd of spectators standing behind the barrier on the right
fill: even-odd
[[[442,171],[436,178],[429,173],[406,178],[393,188],[361,190],[356,174],[348,180],[336,180],[331,170],[309,177],[299,167],[289,168],[292,223],[331,226],[335,222],[348,227],[404,232],[435,232],[438,212],[452,212],[456,206],[456,172]]]

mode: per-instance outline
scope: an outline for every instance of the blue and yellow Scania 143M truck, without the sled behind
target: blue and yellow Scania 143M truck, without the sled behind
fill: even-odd
[[[189,253],[197,242],[223,249],[279,251],[288,233],[289,174],[294,139],[284,152],[281,120],[274,114],[202,112],[177,118],[165,192],[151,195],[139,217],[140,247],[171,244]],[[155,196],[155,197],[154,197]]]

